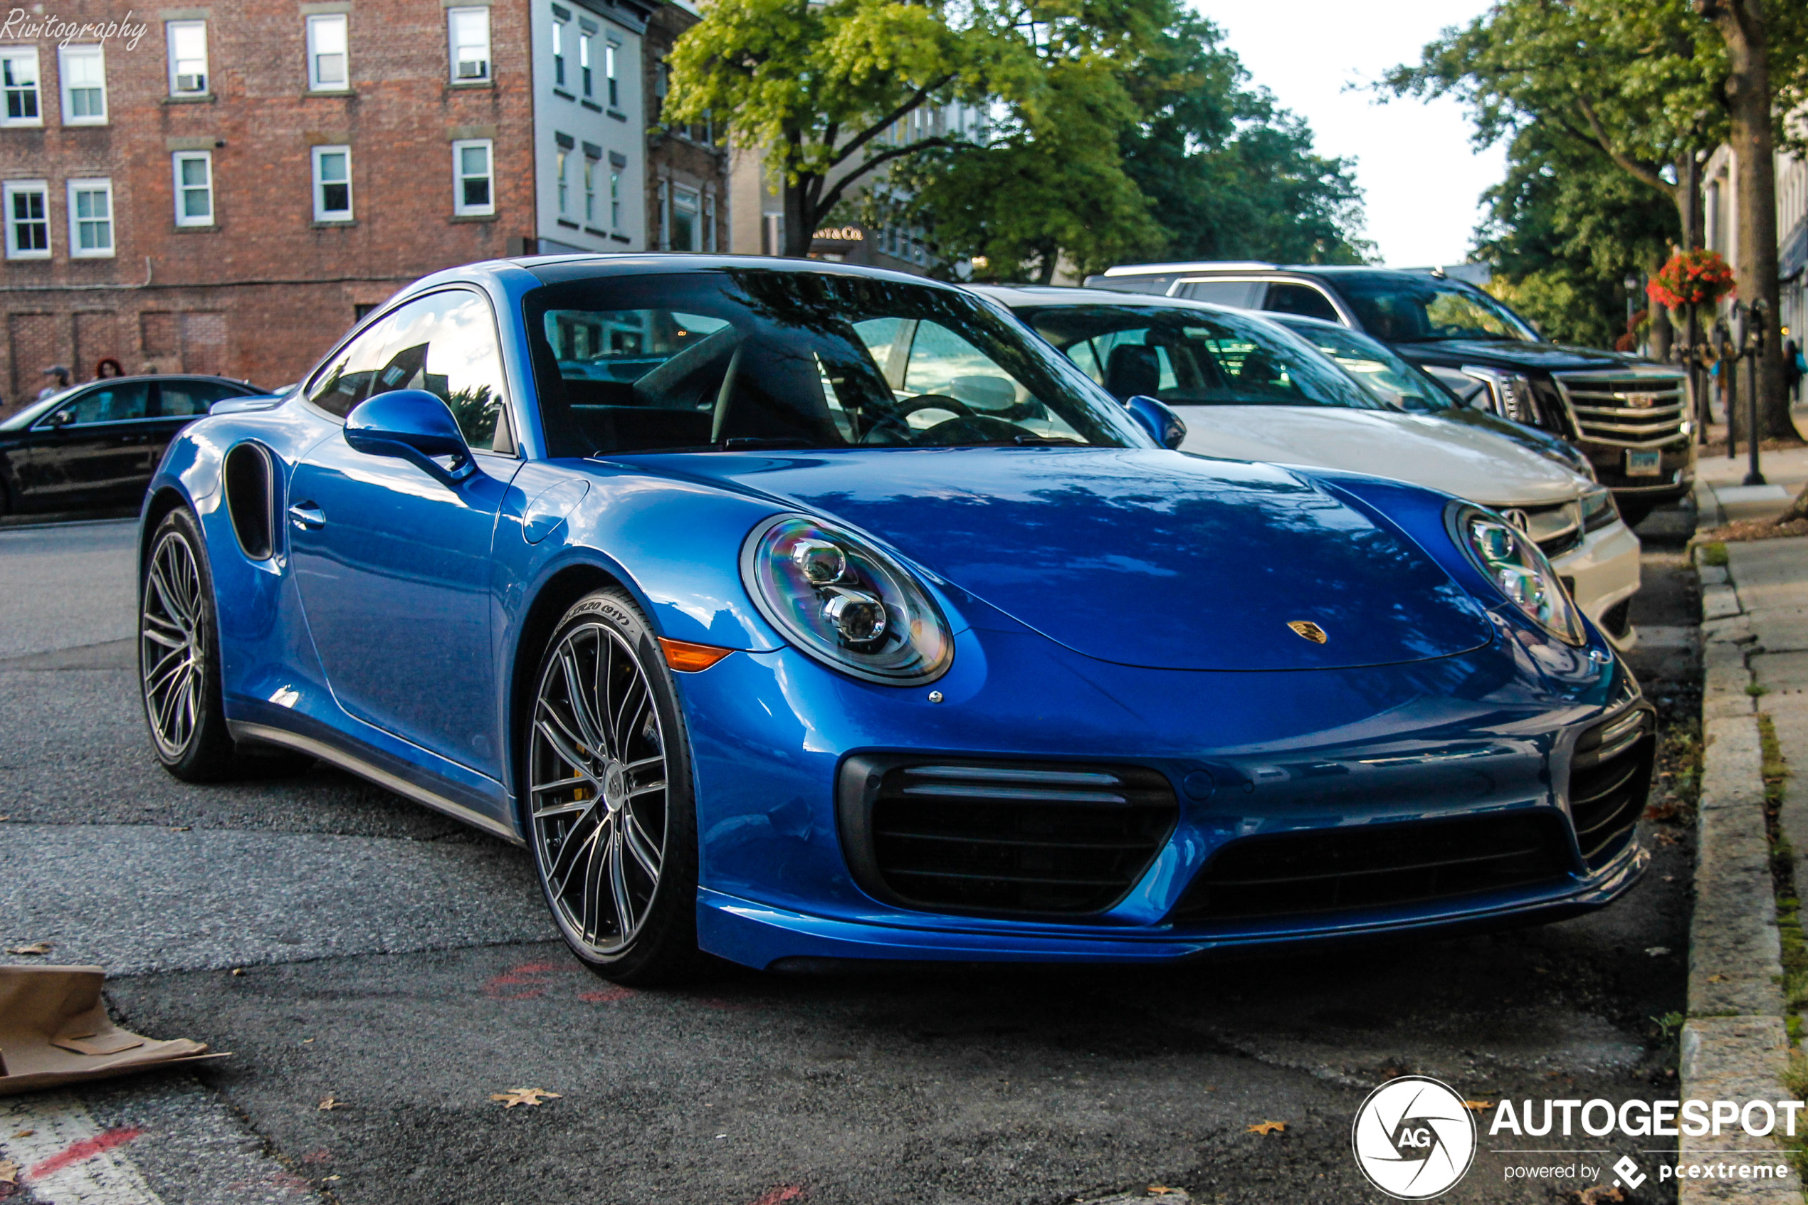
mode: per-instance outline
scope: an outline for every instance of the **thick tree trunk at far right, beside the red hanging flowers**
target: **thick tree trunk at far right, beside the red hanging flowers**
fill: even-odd
[[[1777,332],[1777,161],[1770,143],[1770,47],[1765,38],[1765,0],[1721,0],[1707,5],[1727,43],[1727,108],[1732,116],[1732,152],[1737,170],[1739,255],[1734,271],[1739,298],[1765,304],[1765,354],[1757,361],[1757,416],[1761,439],[1801,443],[1783,387],[1783,343]],[[1743,381],[1741,381],[1743,385]]]

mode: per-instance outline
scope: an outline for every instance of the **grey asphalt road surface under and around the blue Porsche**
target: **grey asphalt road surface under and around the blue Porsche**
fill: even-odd
[[[5,1205],[1054,1205],[1150,1185],[1345,1205],[1383,1200],[1349,1127],[1392,1075],[1486,1102],[1674,1084],[1653,1017],[1683,1006],[1692,842],[1651,820],[1656,865],[1629,898],[1510,934],[1161,972],[615,988],[564,954],[501,842],[331,770],[166,777],[136,703],[132,540],[0,531],[0,948],[98,961],[123,1024],[233,1057],[0,1098],[0,1160],[27,1172],[45,1133],[130,1135],[60,1172],[112,1196],[27,1174],[0,1182]],[[1674,553],[1645,574],[1634,665],[1687,724],[1692,578]],[[490,1100],[513,1088],[559,1097]],[[1501,1145],[1484,1136],[1443,1200],[1566,1200],[1504,1182],[1531,1160]],[[1627,1200],[1674,1198],[1653,1178]]]

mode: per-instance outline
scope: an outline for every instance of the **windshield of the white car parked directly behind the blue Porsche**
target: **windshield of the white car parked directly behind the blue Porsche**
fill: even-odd
[[[1173,406],[1383,410],[1313,347],[1260,318],[1182,305],[1049,305],[1018,316],[1108,394]]]

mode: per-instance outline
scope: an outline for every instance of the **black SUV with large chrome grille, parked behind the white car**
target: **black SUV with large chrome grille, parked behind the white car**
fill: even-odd
[[[1468,405],[1562,435],[1613,490],[1625,522],[1694,488],[1680,369],[1562,347],[1481,289],[1441,273],[1278,264],[1135,264],[1087,287],[1323,318],[1390,343]]]

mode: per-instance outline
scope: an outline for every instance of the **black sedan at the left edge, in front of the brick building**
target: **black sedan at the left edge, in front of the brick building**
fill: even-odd
[[[175,432],[262,392],[222,376],[116,376],[34,401],[0,421],[0,515],[137,506]]]

